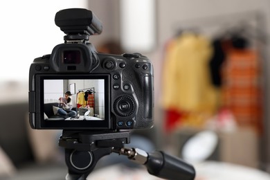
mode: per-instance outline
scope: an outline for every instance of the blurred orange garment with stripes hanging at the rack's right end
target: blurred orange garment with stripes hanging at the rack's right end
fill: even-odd
[[[222,67],[222,105],[232,111],[237,125],[262,132],[262,87],[258,51],[227,48]]]

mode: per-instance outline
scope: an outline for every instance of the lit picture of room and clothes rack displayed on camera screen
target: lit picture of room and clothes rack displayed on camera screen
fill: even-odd
[[[45,79],[44,120],[105,120],[105,79]]]

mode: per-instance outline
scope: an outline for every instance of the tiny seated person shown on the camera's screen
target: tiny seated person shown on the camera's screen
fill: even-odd
[[[64,93],[64,98],[59,98],[59,109],[57,110],[57,114],[61,116],[76,116],[77,112],[72,110],[72,102],[71,102],[71,92],[66,91]]]

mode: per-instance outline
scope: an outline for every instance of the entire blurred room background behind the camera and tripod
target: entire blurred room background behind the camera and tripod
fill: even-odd
[[[99,52],[154,65],[155,125],[133,131],[132,145],[185,159],[197,179],[270,179],[268,0],[1,1],[0,179],[66,175],[61,130],[28,125],[29,67],[63,43],[54,17],[64,8],[102,21],[90,37]],[[89,179],[156,179],[115,159]]]

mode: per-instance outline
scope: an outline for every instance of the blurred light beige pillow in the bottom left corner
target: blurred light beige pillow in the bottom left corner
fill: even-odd
[[[1,177],[8,177],[16,171],[15,166],[12,164],[8,156],[0,147],[0,179]]]

